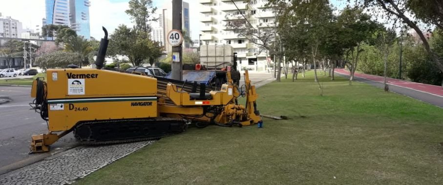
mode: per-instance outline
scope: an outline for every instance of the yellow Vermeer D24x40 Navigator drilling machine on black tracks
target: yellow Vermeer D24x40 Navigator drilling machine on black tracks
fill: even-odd
[[[102,38],[96,69],[48,69],[32,85],[31,105],[46,120],[48,133],[32,135],[31,153],[69,132],[82,144],[110,144],[158,139],[183,132],[188,125],[203,128],[261,123],[258,95],[248,72],[244,88],[228,82],[219,88],[172,79],[128,74],[103,68],[108,44]],[[237,97],[245,96],[246,105]]]

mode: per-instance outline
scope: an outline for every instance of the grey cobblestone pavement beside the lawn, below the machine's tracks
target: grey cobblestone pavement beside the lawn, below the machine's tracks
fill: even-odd
[[[64,185],[143,148],[154,141],[82,146],[0,176],[0,185]]]

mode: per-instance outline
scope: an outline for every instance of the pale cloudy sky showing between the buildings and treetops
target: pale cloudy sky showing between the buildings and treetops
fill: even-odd
[[[36,25],[42,24],[42,18],[45,18],[45,0],[0,0],[0,13],[2,16],[11,16],[22,22],[23,28],[35,29]],[[125,13],[128,9],[129,0],[90,0],[91,7],[90,26],[91,36],[97,39],[103,36],[101,26],[107,30],[114,30],[119,24],[132,25],[131,20]],[[200,13],[198,0],[184,0],[190,5],[190,30],[192,39],[198,39],[201,23],[198,21]],[[339,1],[339,2],[337,2]],[[340,6],[345,0],[332,0],[333,4]],[[161,8],[170,0],[153,0],[154,6]]]

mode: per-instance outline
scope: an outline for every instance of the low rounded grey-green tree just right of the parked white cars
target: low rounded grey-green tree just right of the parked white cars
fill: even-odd
[[[80,63],[80,58],[81,56],[78,53],[57,51],[38,57],[36,63],[44,70],[66,68],[69,64]]]

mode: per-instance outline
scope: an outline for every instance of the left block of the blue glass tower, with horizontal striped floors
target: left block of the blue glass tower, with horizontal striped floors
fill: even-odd
[[[46,24],[69,26],[69,0],[46,0]]]

